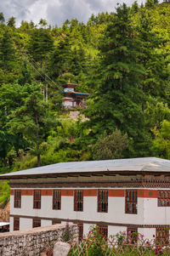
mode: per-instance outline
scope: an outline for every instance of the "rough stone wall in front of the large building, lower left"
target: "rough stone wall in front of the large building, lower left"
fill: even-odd
[[[54,243],[61,241],[65,225],[57,224],[0,234],[0,255],[39,256],[53,250]],[[70,225],[75,242],[78,239],[77,225]]]

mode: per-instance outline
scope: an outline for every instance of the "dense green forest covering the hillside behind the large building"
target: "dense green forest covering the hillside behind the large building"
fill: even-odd
[[[0,13],[1,174],[55,162],[170,159],[170,3],[147,0],[62,27]],[[69,118],[64,82],[88,92]],[[50,97],[54,94],[53,97]],[[8,186],[1,183],[3,196]]]

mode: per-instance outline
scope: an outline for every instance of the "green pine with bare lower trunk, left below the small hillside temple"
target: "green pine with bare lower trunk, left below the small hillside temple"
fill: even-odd
[[[22,134],[31,147],[35,147],[31,151],[37,156],[37,166],[40,166],[40,145],[56,122],[54,117],[47,114],[48,104],[42,101],[40,87],[30,85],[30,88],[34,88],[34,91],[24,99],[22,106],[12,112],[8,128],[11,134]]]

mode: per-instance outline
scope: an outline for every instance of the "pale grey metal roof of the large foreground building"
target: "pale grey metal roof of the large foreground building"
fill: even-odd
[[[76,174],[167,174],[168,172],[170,172],[169,160],[156,157],[143,157],[87,162],[59,162],[38,168],[3,174],[0,175],[0,179],[57,177],[60,175]]]

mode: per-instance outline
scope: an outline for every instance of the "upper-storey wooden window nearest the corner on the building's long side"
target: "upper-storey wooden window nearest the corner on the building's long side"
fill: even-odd
[[[126,191],[125,213],[137,214],[137,191]]]

